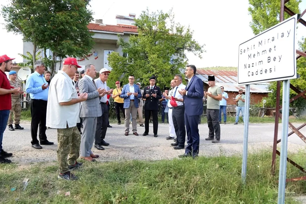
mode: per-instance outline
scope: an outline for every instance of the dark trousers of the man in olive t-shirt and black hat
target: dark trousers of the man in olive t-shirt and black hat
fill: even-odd
[[[209,128],[208,137],[220,140],[219,109],[206,109],[206,114]]]

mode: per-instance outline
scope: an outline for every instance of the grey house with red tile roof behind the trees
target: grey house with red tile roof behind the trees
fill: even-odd
[[[108,65],[108,54],[112,52],[118,52],[121,55],[122,53],[121,46],[117,45],[118,35],[125,39],[129,40],[130,35],[138,35],[137,27],[135,23],[135,14],[130,13],[129,16],[116,15],[117,25],[104,24],[102,19],[95,20],[95,23],[89,23],[87,28],[90,32],[94,32],[93,40],[95,45],[91,50],[91,53],[86,58],[79,58],[78,64],[82,66],[79,68],[79,71],[83,70],[85,65],[93,64],[95,65],[97,72],[102,68],[111,69]],[[31,42],[23,43],[23,54],[26,55],[26,52],[31,52],[33,50],[33,44]],[[38,50],[41,51],[41,50]],[[43,54],[43,52],[42,52]],[[47,50],[47,56],[52,56],[52,52]],[[57,58],[58,63],[56,65],[56,71],[59,70],[60,59]],[[26,60],[24,59],[24,62]]]

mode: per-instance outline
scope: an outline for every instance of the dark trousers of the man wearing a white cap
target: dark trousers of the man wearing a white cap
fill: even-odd
[[[97,127],[95,133],[95,144],[101,144],[105,138],[107,125],[108,125],[108,109],[107,105],[101,103],[102,116],[97,117]]]

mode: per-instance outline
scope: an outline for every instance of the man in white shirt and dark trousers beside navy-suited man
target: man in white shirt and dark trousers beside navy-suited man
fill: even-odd
[[[175,150],[180,150],[185,148],[185,138],[186,138],[186,129],[185,129],[185,119],[182,117],[185,112],[184,108],[184,99],[183,96],[179,93],[179,91],[185,89],[185,85],[182,83],[182,76],[176,74],[174,76],[174,91],[172,96],[175,98],[177,106],[172,107],[172,120],[174,125],[175,134],[177,137],[177,141],[175,143],[171,143]],[[171,96],[164,94],[165,97],[171,100]]]

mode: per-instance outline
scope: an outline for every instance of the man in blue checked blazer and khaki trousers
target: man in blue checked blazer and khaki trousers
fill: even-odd
[[[129,76],[129,83],[125,84],[122,88],[120,98],[124,98],[123,108],[125,109],[125,133],[124,135],[129,135],[130,129],[130,115],[132,115],[132,128],[133,134],[138,135],[137,133],[137,122],[136,115],[138,109],[138,98],[141,98],[141,91],[138,85],[134,84],[135,77],[134,75]]]

